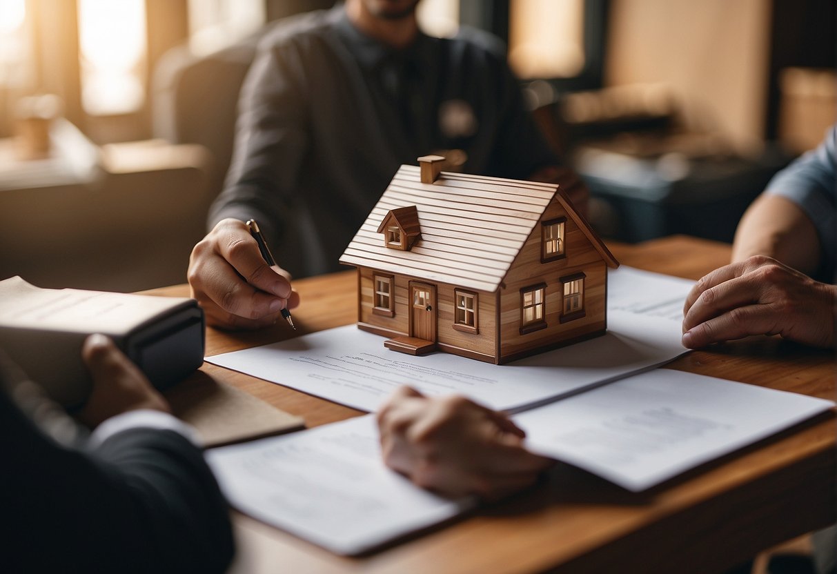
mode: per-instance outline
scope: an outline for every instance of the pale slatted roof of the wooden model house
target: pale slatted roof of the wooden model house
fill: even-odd
[[[557,184],[453,172],[422,183],[416,166],[398,170],[340,263],[493,292],[553,197],[615,267],[613,255]],[[399,209],[413,206],[421,238],[410,251],[387,249],[379,229],[391,216],[400,217],[395,215]]]

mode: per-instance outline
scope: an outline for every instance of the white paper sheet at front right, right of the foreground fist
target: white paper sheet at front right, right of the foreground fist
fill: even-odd
[[[834,402],[656,369],[515,416],[527,447],[644,490]]]

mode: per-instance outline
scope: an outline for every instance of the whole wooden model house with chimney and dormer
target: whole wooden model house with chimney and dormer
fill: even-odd
[[[556,184],[402,166],[343,253],[358,327],[506,363],[603,335],[614,259]]]

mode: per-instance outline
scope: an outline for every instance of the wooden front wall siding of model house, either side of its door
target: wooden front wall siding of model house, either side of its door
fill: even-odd
[[[401,335],[408,335],[409,331],[409,305],[408,305],[408,284],[410,281],[424,280],[419,277],[395,276],[395,316],[387,317],[372,313],[374,306],[373,276],[376,271],[373,269],[360,269],[360,316],[361,323],[372,325],[388,331],[395,331]],[[495,331],[496,312],[493,293],[480,292],[477,294],[478,318],[480,332],[478,334],[456,331],[454,324],[454,289],[461,288],[461,285],[435,284],[436,285],[436,338],[439,343],[473,351],[483,355],[495,355]],[[383,342],[382,342],[383,345]]]

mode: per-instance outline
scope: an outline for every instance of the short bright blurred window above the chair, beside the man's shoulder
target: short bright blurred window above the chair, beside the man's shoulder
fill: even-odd
[[[189,49],[203,56],[264,25],[264,0],[189,0]]]

